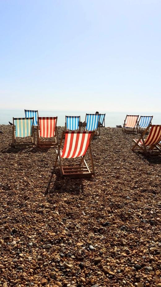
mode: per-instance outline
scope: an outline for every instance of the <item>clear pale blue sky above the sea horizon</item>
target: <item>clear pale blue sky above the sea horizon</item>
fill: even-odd
[[[160,0],[1,0],[1,108],[161,109]]]

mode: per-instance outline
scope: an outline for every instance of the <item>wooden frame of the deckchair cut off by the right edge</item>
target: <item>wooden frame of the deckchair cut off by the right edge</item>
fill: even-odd
[[[145,139],[144,139],[144,135],[147,133],[147,131],[150,129],[150,127],[151,127],[152,125],[149,125],[147,128],[146,128],[146,130],[144,130],[144,132],[141,134],[141,136],[140,136],[140,138],[137,140],[137,142],[135,142],[135,140],[133,139],[133,142],[135,143],[134,145],[133,145],[133,147],[132,147],[132,149],[131,150],[134,150],[134,149],[136,149],[136,150],[141,150],[146,156],[148,155],[148,149],[149,150],[159,150],[159,151],[161,151],[161,145],[159,144],[159,143],[157,143],[157,144],[153,144],[153,145],[149,145],[149,146],[146,146],[145,145]],[[161,126],[161,125],[159,125],[159,126]],[[140,142],[140,140],[142,140],[142,145],[139,145],[139,142]],[[160,146],[160,147],[159,147]],[[148,148],[148,149],[147,149]]]

